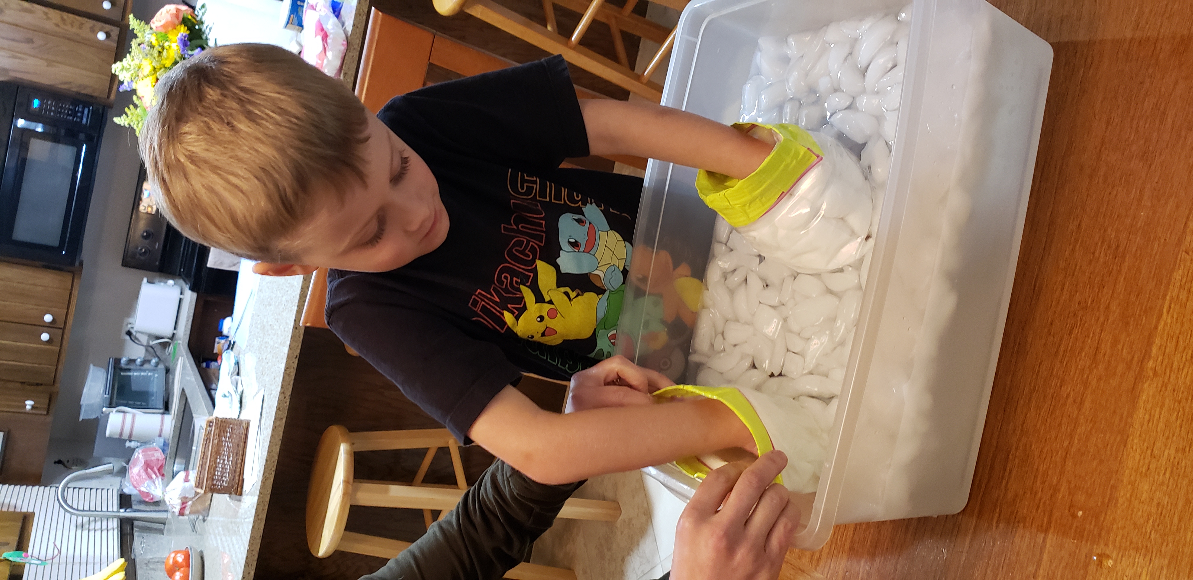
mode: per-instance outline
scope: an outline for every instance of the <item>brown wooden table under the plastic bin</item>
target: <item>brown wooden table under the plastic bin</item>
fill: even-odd
[[[991,2],[1055,61],[969,505],[784,579],[1193,575],[1193,2]]]

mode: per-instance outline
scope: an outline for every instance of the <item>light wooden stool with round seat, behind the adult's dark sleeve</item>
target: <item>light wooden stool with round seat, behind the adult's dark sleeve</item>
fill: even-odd
[[[353,452],[394,449],[422,449],[427,455],[419,465],[415,482],[421,483],[438,448],[447,448],[456,470],[453,486],[406,485],[353,479]],[[350,433],[340,425],[323,432],[315,451],[315,463],[307,489],[307,547],[315,557],[330,556],[335,550],[391,559],[410,547],[408,542],[367,536],[344,530],[350,506],[377,506],[424,510],[429,525],[429,510],[456,507],[466,489],[458,443],[445,428],[372,431]],[[440,514],[440,519],[443,518]],[[617,522],[622,507],[616,501],[569,499],[561,518]],[[514,580],[575,580],[571,570],[524,562],[506,573]]]

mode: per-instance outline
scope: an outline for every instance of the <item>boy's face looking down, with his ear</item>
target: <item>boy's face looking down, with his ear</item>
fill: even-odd
[[[365,184],[353,183],[342,203],[333,192],[321,192],[328,203],[291,240],[302,248],[302,264],[259,263],[254,272],[292,276],[316,267],[387,272],[443,243],[447,211],[431,168],[371,115],[367,136]]]

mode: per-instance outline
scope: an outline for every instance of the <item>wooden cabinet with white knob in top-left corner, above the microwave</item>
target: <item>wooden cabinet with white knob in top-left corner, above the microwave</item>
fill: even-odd
[[[131,1],[107,1],[112,4],[110,10],[104,8],[104,0],[58,4],[118,25],[23,0],[0,0],[0,79],[33,82],[111,103],[116,94],[112,63],[126,29],[119,23],[126,19]]]

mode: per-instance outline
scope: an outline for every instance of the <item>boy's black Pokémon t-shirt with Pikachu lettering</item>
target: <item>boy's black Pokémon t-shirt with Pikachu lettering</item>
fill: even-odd
[[[377,117],[429,166],[447,239],[383,273],[330,272],[328,326],[460,440],[520,371],[612,354],[642,180],[588,155],[560,56],[441,82]]]

